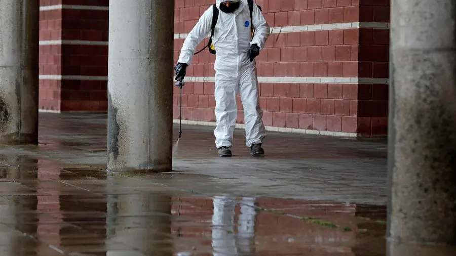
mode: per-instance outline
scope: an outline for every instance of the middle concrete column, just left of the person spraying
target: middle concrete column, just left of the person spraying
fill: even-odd
[[[174,1],[109,2],[109,170],[172,167]]]

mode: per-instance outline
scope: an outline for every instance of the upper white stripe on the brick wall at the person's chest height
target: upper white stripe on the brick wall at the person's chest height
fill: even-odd
[[[337,29],[351,29],[351,28],[389,29],[390,23],[388,23],[388,22],[350,22],[350,23],[303,25],[303,26],[271,27],[271,33],[278,34],[278,33],[323,31],[323,30],[337,30]],[[188,33],[174,34],[174,39],[184,39],[185,37],[187,37],[187,35],[188,35]],[[209,35],[207,37],[209,37]]]

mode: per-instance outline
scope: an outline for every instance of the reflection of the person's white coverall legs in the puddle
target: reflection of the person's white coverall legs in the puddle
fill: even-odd
[[[235,230],[235,207],[237,201],[231,197],[214,198],[212,216],[213,255],[250,255],[255,249],[255,198],[242,198],[238,230]]]

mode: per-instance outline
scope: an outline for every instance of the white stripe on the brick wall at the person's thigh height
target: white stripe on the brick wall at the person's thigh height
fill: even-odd
[[[186,82],[214,82],[214,76],[187,76]],[[259,76],[261,83],[388,83],[388,78],[364,77],[268,77]]]

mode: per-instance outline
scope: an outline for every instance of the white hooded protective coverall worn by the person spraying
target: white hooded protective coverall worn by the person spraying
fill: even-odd
[[[217,8],[225,0],[216,0]],[[236,1],[236,0],[235,0]],[[231,147],[236,126],[236,95],[239,92],[244,107],[246,145],[262,143],[266,131],[262,122],[263,112],[259,106],[256,62],[250,62],[250,45],[256,44],[263,49],[270,35],[270,26],[257,5],[253,6],[252,23],[247,0],[240,1],[239,8],[233,13],[219,9],[218,21],[214,29],[212,44],[216,51],[215,59],[215,146]],[[210,35],[213,15],[210,6],[198,23],[185,38],[178,63],[190,65],[195,48]],[[251,25],[256,29],[251,38]]]

